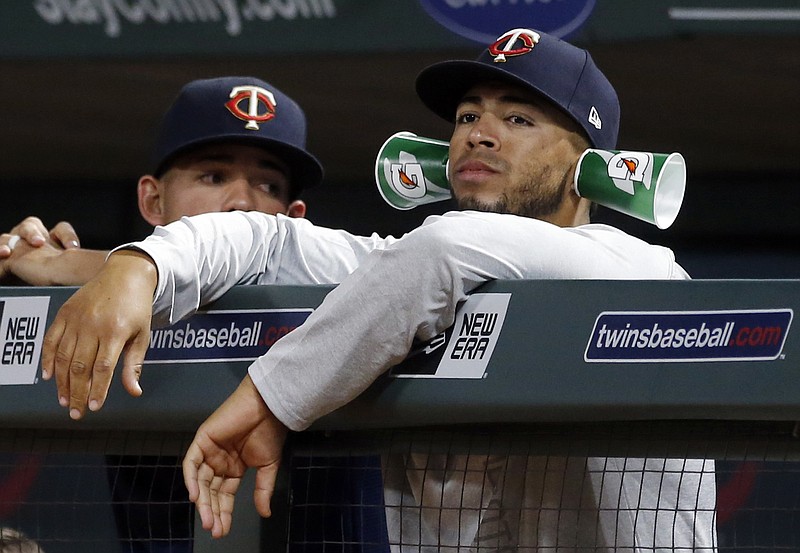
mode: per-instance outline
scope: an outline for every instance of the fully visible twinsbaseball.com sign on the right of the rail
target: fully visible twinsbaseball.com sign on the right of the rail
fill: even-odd
[[[759,361],[783,350],[791,309],[603,312],[587,362]]]

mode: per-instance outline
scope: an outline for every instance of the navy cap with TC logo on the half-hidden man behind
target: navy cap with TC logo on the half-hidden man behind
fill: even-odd
[[[306,150],[306,116],[297,102],[255,77],[200,79],[184,86],[161,122],[153,151],[159,176],[176,156],[216,142],[263,147],[286,163],[295,187],[322,181],[322,165]]]

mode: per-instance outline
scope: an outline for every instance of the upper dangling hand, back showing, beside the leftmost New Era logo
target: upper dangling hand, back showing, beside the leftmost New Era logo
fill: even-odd
[[[58,402],[80,419],[105,402],[120,354],[122,383],[132,396],[150,341],[156,267],[145,254],[115,252],[98,275],[61,306],[44,336],[42,377],[54,375]]]

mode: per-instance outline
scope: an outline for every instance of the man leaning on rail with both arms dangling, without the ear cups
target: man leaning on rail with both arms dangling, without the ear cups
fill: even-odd
[[[287,431],[304,430],[355,398],[402,361],[415,338],[430,340],[451,326],[458,304],[484,282],[688,278],[670,250],[591,224],[589,201],[573,191],[580,154],[613,147],[619,126],[614,89],[587,52],[514,29],[477,61],[424,70],[417,91],[455,123],[449,178],[459,211],[430,217],[399,239],[257,214],[178,222],[115,251],[48,330],[43,375],[57,376],[77,419],[87,405],[102,407],[111,375],[67,382],[70,367],[124,353],[123,384],[140,393],[147,344],[139,337],[149,334],[151,315],[157,323],[176,321],[237,283],[321,282],[358,265],[303,325],[251,365],[198,429],[184,477],[214,536],[230,529],[248,467],[257,470],[256,508],[269,516]],[[224,250],[213,247],[220,236]],[[120,287],[126,302],[110,293]],[[151,299],[152,311],[131,307]],[[115,329],[109,318],[118,321]],[[75,353],[57,360],[56,351]],[[464,460],[426,456],[423,471],[412,459],[399,488],[387,475],[394,550],[716,547],[711,461],[512,456],[497,463],[503,460],[484,456],[470,459],[480,469],[476,477]],[[490,477],[490,465],[505,468]],[[406,502],[393,502],[398,494]]]

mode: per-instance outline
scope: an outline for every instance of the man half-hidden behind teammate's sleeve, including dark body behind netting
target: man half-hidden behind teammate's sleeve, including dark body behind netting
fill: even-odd
[[[292,98],[255,77],[195,80],[161,121],[150,172],[138,182],[139,211],[154,227],[233,210],[304,217],[299,196],[322,175],[306,150],[305,114]],[[29,217],[0,236],[0,258],[17,250],[0,262],[0,276],[33,285],[84,284],[108,252],[77,246],[70,224],[59,223],[48,233],[40,219]],[[175,489],[177,460],[108,462],[125,551],[191,550],[192,511],[183,486]]]

